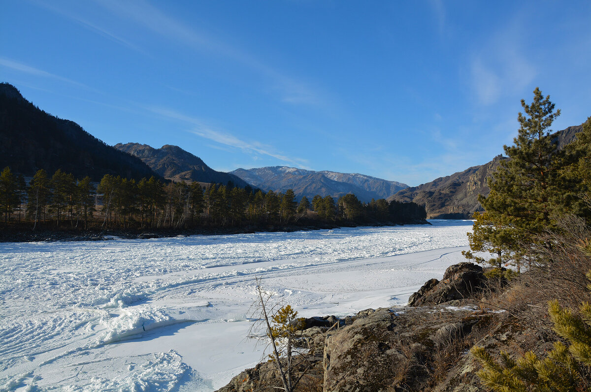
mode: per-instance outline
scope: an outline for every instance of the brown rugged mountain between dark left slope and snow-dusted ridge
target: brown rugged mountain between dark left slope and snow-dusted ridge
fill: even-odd
[[[228,184],[231,181],[239,187],[248,185],[247,182],[233,174],[213,170],[201,158],[176,145],[165,144],[160,148],[154,148],[147,144],[118,143],[114,147],[119,151],[138,157],[152,170],[168,180],[222,184]]]

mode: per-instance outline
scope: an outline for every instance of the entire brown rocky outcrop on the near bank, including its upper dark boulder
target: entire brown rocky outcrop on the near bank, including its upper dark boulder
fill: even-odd
[[[465,298],[476,293],[473,288],[483,283],[482,268],[460,263],[447,268],[441,281],[432,279],[414,294],[415,301],[426,306],[366,309],[344,320],[307,319],[310,325],[334,322],[332,328],[315,325],[303,331],[309,351],[306,358],[296,359],[294,376],[303,376],[296,391],[485,391],[476,375],[480,365],[467,354],[473,345],[493,355],[500,350],[541,354],[551,349],[548,339],[537,337],[544,331],[540,319],[545,313],[532,316],[531,309],[540,306],[524,306],[515,314],[482,309],[466,299],[462,307],[449,306],[450,300],[456,303],[460,294]],[[441,303],[433,305],[436,302]],[[277,370],[268,361],[243,371],[220,391],[277,388]]]

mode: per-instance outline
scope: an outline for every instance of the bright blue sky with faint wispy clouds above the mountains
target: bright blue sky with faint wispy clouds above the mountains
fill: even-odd
[[[108,144],[411,186],[591,115],[589,1],[2,1],[0,80]]]

